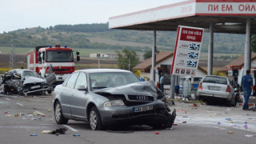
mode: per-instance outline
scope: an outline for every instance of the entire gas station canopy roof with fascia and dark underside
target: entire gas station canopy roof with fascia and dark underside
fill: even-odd
[[[256,34],[255,0],[189,0],[110,18],[110,29],[175,31],[178,26],[193,26],[214,33]]]

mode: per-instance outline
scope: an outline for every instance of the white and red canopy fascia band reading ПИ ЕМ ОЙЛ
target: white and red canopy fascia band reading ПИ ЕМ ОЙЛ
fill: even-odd
[[[256,16],[256,0],[188,0],[112,17],[109,27],[112,29],[198,15],[243,18]]]

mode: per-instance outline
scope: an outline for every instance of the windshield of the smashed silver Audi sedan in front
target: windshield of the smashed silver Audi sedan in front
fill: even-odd
[[[90,74],[90,86],[92,90],[123,86],[135,82],[141,81],[132,73],[107,72]]]

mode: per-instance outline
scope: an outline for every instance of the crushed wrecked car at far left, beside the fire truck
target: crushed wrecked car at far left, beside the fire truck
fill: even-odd
[[[2,76],[4,94],[42,94],[43,91],[51,92],[46,79],[42,78],[34,70],[14,69],[7,71]]]

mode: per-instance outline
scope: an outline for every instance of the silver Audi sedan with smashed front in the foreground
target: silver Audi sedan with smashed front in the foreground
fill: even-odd
[[[154,82],[141,82],[127,70],[75,71],[55,87],[53,106],[57,124],[74,119],[89,122],[92,130],[118,125],[170,128],[176,118]]]

